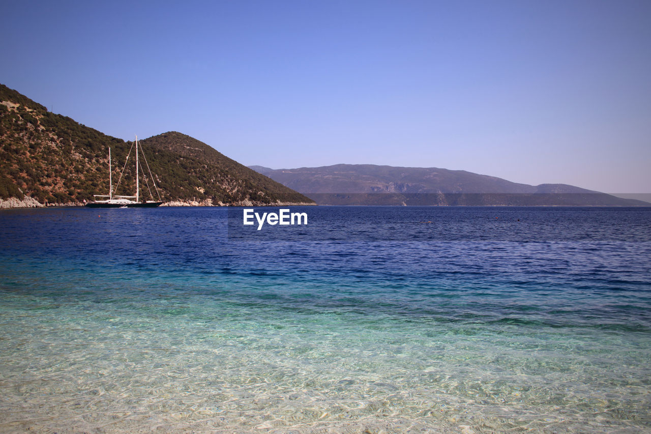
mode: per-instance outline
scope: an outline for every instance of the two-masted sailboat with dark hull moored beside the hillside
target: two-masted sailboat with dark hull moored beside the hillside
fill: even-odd
[[[135,196],[122,196],[122,195],[115,195],[113,194],[115,191],[117,191],[118,186],[120,186],[120,181],[122,181],[122,175],[124,175],[124,169],[126,169],[126,164],[129,161],[129,156],[131,155],[131,151],[133,149],[129,150],[129,154],[126,156],[126,160],[124,161],[124,167],[122,167],[122,173],[120,173],[120,178],[118,179],[118,183],[115,186],[115,190],[113,190],[113,174],[111,173],[111,148],[109,147],[109,194],[108,195],[102,195],[102,194],[95,194],[95,201],[87,203],[86,206],[90,208],[155,208],[161,205],[163,203],[160,193],[158,192],[158,187],[156,187],[156,181],[154,180],[154,177],[152,175],[151,169],[149,169],[149,164],[147,162],[147,158],[145,156],[145,153],[143,152],[143,158],[145,158],[145,166],[147,167],[147,170],[149,172],[149,176],[152,179],[152,184],[154,184],[154,190],[156,190],[156,194],[158,194],[158,201],[140,201],[140,162],[138,159],[138,148],[139,148],[139,142],[138,142],[138,136],[135,136]],[[154,195],[152,194],[152,190],[149,188],[149,182],[147,181],[146,178],[146,173],[145,170],[143,169],[143,175],[145,175],[145,183],[146,186],[149,190],[149,194],[154,198]],[[108,199],[99,199],[100,197],[107,197]],[[133,200],[135,199],[135,200]]]

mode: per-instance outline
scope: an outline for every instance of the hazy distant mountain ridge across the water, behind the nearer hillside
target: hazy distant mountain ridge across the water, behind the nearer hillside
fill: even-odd
[[[464,170],[335,164],[297,169],[249,166],[331,205],[651,205],[568,184],[532,186]]]

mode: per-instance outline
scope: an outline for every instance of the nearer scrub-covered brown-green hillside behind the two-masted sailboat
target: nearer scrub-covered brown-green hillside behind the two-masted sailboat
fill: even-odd
[[[184,137],[194,147],[199,143],[206,148],[205,155],[176,152],[174,149],[178,147],[165,145],[166,136]],[[1,199],[22,199],[27,195],[50,205],[92,201],[93,194],[109,192],[109,147],[115,186],[131,146],[132,142],[51,113],[26,96],[0,85]],[[142,149],[163,201],[213,205],[245,201],[256,205],[312,203],[311,199],[180,133],[152,137],[150,143],[143,141]],[[115,194],[135,194],[133,158],[132,152]],[[143,156],[141,166],[145,167]],[[142,177],[141,186],[141,192],[148,195]],[[155,192],[154,196],[158,199]]]

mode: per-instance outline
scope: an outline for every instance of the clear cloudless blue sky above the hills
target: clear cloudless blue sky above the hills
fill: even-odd
[[[651,1],[15,1],[0,83],[242,164],[651,192]]]

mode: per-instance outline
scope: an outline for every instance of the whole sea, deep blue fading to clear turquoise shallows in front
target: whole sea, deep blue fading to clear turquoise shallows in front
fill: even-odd
[[[651,207],[288,209],[1,211],[0,432],[651,432]]]

